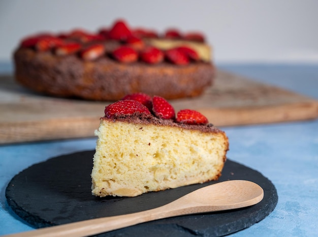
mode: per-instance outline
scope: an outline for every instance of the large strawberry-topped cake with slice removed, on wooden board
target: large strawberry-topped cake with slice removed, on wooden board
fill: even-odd
[[[159,34],[123,20],[97,33],[27,36],[14,52],[14,65],[16,81],[36,92],[109,101],[136,92],[166,99],[198,96],[215,74],[203,34]]]

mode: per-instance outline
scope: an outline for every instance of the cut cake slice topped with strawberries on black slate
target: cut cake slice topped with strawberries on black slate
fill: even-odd
[[[200,112],[141,93],[106,106],[93,157],[92,194],[137,196],[217,180],[226,134]]]

